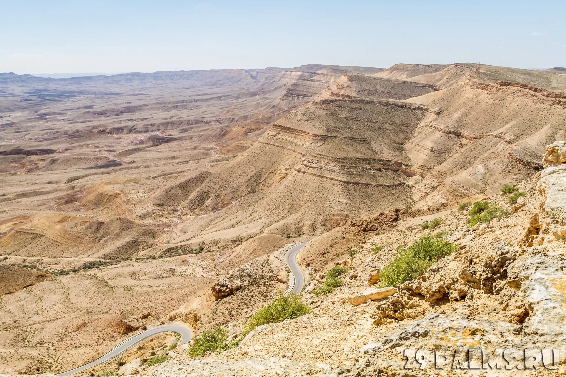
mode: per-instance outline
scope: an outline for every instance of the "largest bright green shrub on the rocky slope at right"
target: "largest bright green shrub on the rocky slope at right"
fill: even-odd
[[[387,266],[379,271],[383,287],[397,287],[410,281],[428,270],[438,259],[454,252],[456,246],[444,239],[424,235],[408,248],[401,246],[397,255]]]

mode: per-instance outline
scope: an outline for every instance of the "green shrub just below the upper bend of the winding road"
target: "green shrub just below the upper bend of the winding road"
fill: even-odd
[[[246,331],[250,332],[254,328],[268,323],[279,323],[285,319],[301,317],[307,314],[311,309],[303,304],[298,294],[289,294],[284,296],[279,292],[277,297],[271,304],[268,304],[258,311],[248,320]]]

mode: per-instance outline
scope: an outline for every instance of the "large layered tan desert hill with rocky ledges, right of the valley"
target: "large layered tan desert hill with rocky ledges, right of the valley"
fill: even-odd
[[[188,178],[186,199],[174,205],[215,212],[205,216],[208,223],[200,218],[195,232],[254,224],[258,232],[309,234],[353,213],[439,207],[535,174],[544,146],[564,136],[563,90],[549,89],[564,89],[566,81],[548,72],[525,79],[533,71],[476,67],[453,64],[410,82],[341,76],[225,168]],[[509,110],[517,108],[528,110]],[[348,194],[334,200],[323,192]],[[166,207],[167,195],[157,197]]]

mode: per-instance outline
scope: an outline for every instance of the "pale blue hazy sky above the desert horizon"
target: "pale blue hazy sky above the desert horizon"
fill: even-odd
[[[566,66],[566,1],[5,1],[0,72]]]

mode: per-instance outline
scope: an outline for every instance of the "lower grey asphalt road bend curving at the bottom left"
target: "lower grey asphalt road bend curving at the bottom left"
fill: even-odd
[[[70,376],[75,373],[82,372],[83,370],[89,369],[100,363],[103,362],[108,363],[112,361],[112,359],[114,359],[115,357],[118,357],[122,353],[126,352],[128,349],[134,348],[136,345],[140,344],[145,339],[148,339],[153,335],[157,335],[158,333],[166,332],[166,331],[176,332],[179,335],[181,335],[181,341],[179,342],[179,344],[187,343],[192,338],[192,331],[187,326],[183,326],[182,324],[164,324],[162,326],[157,326],[143,332],[135,333],[134,335],[126,338],[125,340],[122,340],[108,353],[102,355],[96,360],[93,360],[83,366],[76,367],[75,369],[71,369],[66,372],[59,373],[58,376]]]

